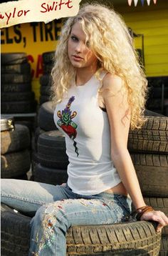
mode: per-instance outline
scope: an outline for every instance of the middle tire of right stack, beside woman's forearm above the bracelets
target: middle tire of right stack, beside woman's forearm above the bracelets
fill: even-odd
[[[168,197],[168,155],[130,154],[142,195]]]

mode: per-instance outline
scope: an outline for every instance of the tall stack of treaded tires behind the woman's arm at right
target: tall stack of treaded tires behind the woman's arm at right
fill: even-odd
[[[168,117],[147,116],[142,129],[129,133],[128,149],[146,204],[168,216]],[[168,255],[167,244],[164,227],[160,256]]]

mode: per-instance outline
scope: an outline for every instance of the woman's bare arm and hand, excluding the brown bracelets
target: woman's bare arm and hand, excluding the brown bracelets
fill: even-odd
[[[130,129],[130,109],[127,102],[127,92],[122,94],[123,80],[120,77],[107,74],[103,79],[102,96],[110,122],[111,157],[120,179],[127,189],[135,208],[145,206],[140,184],[130,153],[127,150],[127,139]],[[153,211],[144,213],[141,220],[159,222],[157,228],[168,225],[168,218],[163,212]]]

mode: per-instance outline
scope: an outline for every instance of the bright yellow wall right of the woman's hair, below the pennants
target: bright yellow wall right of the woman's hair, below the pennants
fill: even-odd
[[[168,76],[168,1],[142,6],[139,0],[137,7],[126,3],[115,9],[136,34],[144,34],[147,77]],[[135,47],[142,48],[141,38],[135,38]]]

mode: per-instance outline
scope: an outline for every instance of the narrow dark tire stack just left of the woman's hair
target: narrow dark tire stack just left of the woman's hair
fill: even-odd
[[[40,104],[48,102],[51,96],[51,69],[53,68],[54,51],[44,52],[42,54],[43,59],[43,75],[40,77]]]

